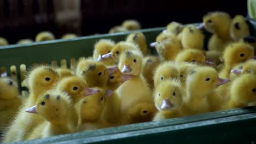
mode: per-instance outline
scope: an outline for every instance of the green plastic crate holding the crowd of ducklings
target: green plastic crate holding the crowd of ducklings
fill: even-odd
[[[256,22],[248,20],[255,35]],[[147,43],[155,41],[164,27],[142,29]],[[59,62],[70,58],[91,56],[94,44],[100,39],[124,40],[131,32],[80,37],[72,40],[54,40],[26,45],[0,47],[0,67],[15,65],[20,82],[20,64]],[[206,33],[208,40],[209,33]],[[155,50],[152,49],[153,53]],[[171,118],[158,122],[123,125],[120,127],[84,131],[45,139],[18,143],[255,143],[256,107],[245,107],[200,115]]]

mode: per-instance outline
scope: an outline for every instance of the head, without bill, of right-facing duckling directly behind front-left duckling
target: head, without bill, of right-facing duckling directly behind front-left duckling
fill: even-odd
[[[63,78],[57,83],[56,89],[66,92],[71,96],[72,103],[76,104],[84,97],[84,89],[87,87],[86,82],[78,76],[69,76]]]

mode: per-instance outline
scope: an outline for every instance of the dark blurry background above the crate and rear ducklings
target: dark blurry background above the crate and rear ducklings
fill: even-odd
[[[53,32],[56,38],[68,32],[108,33],[125,19],[136,19],[142,28],[152,28],[166,26],[171,21],[201,22],[208,11],[226,11],[232,17],[247,15],[246,0],[79,0],[80,16],[74,20],[79,25],[74,26],[73,20],[63,25],[56,21],[54,4],[53,0],[0,0],[0,37],[15,44],[22,38],[34,39],[38,32],[45,30]]]

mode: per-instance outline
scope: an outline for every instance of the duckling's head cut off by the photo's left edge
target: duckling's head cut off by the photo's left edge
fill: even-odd
[[[0,100],[17,98],[19,95],[18,85],[9,77],[0,77]]]

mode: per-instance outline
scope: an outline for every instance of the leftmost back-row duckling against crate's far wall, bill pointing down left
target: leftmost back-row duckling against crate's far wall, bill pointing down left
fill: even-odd
[[[110,39],[101,39],[94,45],[94,61],[103,61],[106,65],[113,65],[113,59],[103,59],[102,56],[109,53],[114,47],[115,42]]]

